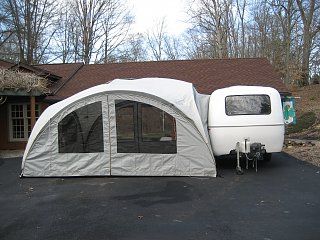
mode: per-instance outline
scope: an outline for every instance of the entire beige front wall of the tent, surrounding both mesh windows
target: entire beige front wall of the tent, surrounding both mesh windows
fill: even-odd
[[[143,102],[176,119],[177,153],[117,153],[115,100]],[[72,111],[102,103],[104,152],[59,153],[58,124]],[[106,91],[62,108],[36,136],[22,164],[23,176],[216,176],[210,143],[192,119],[173,104],[149,94]]]

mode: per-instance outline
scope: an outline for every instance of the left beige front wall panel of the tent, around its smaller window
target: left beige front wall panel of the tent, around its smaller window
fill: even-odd
[[[94,95],[66,106],[50,119],[38,135],[23,166],[23,176],[100,176],[110,175],[109,123],[103,117],[104,152],[59,153],[58,123],[72,111],[94,102],[102,102],[102,114],[108,115],[107,96]]]

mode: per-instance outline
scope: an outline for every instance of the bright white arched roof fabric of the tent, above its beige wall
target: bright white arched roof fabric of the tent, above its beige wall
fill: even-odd
[[[76,102],[77,100],[103,92],[114,91],[128,91],[150,94],[173,104],[177,109],[182,111],[189,119],[194,122],[204,141],[208,143],[208,138],[206,137],[200,113],[196,105],[196,92],[191,83],[165,78],[143,78],[136,80],[116,79],[110,83],[101,84],[81,91],[65,100],[49,106],[41,114],[40,118],[36,122],[36,125],[34,126],[34,129],[31,132],[24,159],[39,132],[58,112],[63,110],[69,104]]]

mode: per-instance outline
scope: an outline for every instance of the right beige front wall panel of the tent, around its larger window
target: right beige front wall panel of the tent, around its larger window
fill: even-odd
[[[191,120],[164,102],[138,94],[111,94],[109,99],[111,174],[138,176],[215,176],[214,157]],[[143,102],[164,110],[176,119],[177,153],[117,153],[115,101]]]

